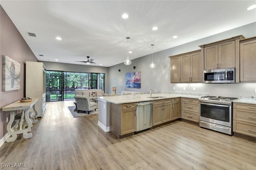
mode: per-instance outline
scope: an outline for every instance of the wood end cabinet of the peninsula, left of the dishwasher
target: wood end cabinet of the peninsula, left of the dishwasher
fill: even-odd
[[[110,103],[110,132],[117,138],[134,134],[136,131],[136,103]]]

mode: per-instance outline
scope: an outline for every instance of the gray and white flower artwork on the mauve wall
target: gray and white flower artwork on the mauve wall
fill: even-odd
[[[20,63],[3,56],[3,91],[20,89]]]

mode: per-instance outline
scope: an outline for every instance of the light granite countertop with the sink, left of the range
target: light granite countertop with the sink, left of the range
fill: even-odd
[[[148,98],[150,94],[142,95],[119,95],[119,96],[104,96],[98,97],[98,99],[103,99],[107,102],[114,104],[124,104],[124,103],[134,103],[134,102],[143,102],[143,101],[154,101],[161,99],[172,99],[176,97],[186,97],[192,99],[199,99],[201,96],[206,96],[208,94],[201,93],[152,93],[152,97],[160,96],[161,98]]]

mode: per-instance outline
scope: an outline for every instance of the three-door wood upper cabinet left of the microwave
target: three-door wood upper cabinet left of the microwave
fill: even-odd
[[[174,55],[171,59],[171,83],[201,82],[201,50]]]

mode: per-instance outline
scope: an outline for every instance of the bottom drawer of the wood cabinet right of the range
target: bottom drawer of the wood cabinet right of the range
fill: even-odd
[[[252,123],[240,122],[234,120],[233,131],[256,137],[256,125]]]

